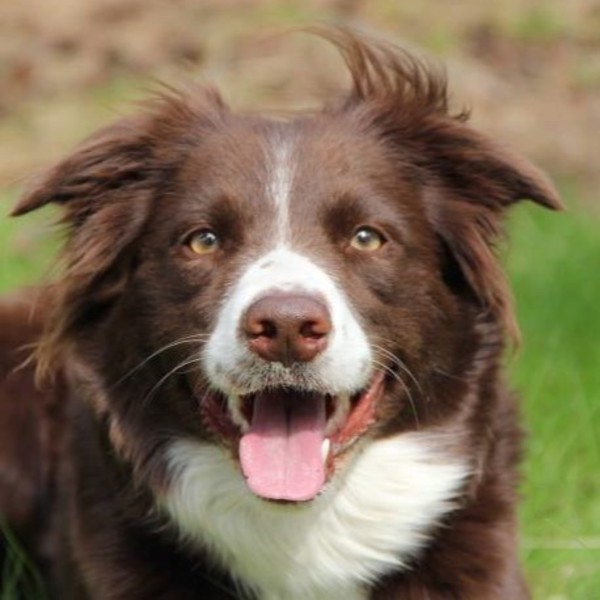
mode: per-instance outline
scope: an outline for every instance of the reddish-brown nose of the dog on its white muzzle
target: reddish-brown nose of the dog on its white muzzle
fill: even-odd
[[[325,349],[331,319],[318,298],[270,294],[250,305],[242,330],[250,350],[265,360],[290,365],[311,361]]]

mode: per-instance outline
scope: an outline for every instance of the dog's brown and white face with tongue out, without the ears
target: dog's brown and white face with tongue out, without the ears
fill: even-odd
[[[415,425],[413,372],[449,368],[460,311],[424,192],[376,135],[229,119],[157,198],[122,310],[153,351],[181,341],[184,418],[250,488],[310,500],[385,398]]]

